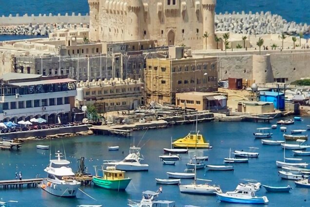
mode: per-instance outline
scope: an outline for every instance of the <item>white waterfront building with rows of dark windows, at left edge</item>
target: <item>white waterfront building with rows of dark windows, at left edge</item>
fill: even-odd
[[[65,76],[7,73],[0,79],[0,121],[30,120],[48,123],[71,120],[77,95],[76,80]]]

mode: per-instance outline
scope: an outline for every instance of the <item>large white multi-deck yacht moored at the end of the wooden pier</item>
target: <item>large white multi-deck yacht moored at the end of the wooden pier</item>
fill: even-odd
[[[76,197],[78,187],[81,185],[75,179],[75,173],[69,168],[70,162],[66,159],[60,159],[62,153],[57,151],[57,159],[50,160],[49,167],[44,169],[47,178],[43,178],[41,189],[60,197]]]

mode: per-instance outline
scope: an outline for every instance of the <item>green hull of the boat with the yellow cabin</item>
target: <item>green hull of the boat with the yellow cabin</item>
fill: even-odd
[[[105,180],[98,177],[93,177],[94,185],[110,190],[125,190],[129,185],[131,178],[125,178],[121,180]]]

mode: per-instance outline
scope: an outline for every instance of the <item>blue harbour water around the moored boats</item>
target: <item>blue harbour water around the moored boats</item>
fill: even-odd
[[[291,129],[305,129],[310,124],[310,118],[303,118],[303,121],[296,122],[288,126]],[[273,121],[274,123],[275,121]],[[258,158],[251,158],[248,164],[233,164],[233,172],[209,172],[205,169],[197,171],[198,178],[211,179],[213,184],[220,185],[223,191],[234,190],[240,182],[246,182],[242,179],[255,179],[263,184],[274,186],[291,185],[293,181],[281,180],[278,176],[278,169],[275,167],[276,160],[283,160],[283,150],[280,146],[262,145],[259,139],[254,139],[252,133],[257,127],[271,126],[272,123],[253,123],[253,122],[207,122],[199,123],[198,129],[205,138],[209,139],[213,149],[199,149],[197,155],[208,155],[208,164],[222,164],[223,158],[229,155],[229,149],[244,149],[248,147],[258,147],[260,153]],[[194,150],[189,154],[181,155],[182,159],[175,166],[164,166],[158,159],[162,154],[164,147],[170,147],[170,138],[185,136],[190,130],[194,130],[194,125],[174,126],[172,128],[160,130],[148,130],[134,132],[131,138],[108,137],[108,136],[88,136],[76,138],[63,138],[66,149],[67,159],[72,162],[72,168],[77,169],[77,157],[85,156],[86,166],[90,173],[95,173],[93,166],[102,164],[105,159],[121,159],[127,155],[129,146],[134,142],[142,146],[141,154],[144,155],[144,163],[150,165],[148,172],[131,172],[126,176],[132,178],[125,192],[116,192],[96,188],[94,186],[81,187],[81,190],[91,195],[97,201],[92,200],[81,192],[77,193],[77,199],[59,198],[37,188],[22,190],[0,190],[0,198],[4,201],[18,200],[15,206],[32,207],[73,207],[81,204],[103,204],[105,207],[125,207],[127,199],[140,199],[141,191],[157,190],[159,188],[155,183],[155,178],[167,178],[166,172],[183,172],[185,164],[189,162],[190,157],[194,156]],[[272,130],[273,140],[283,139],[280,129]],[[144,138],[140,141],[141,137]],[[307,132],[308,133],[308,132]],[[309,141],[308,141],[309,142]],[[48,151],[37,150],[37,144],[51,144],[52,152],[62,149],[60,139],[46,141],[29,141],[22,144],[19,152],[1,151],[0,152],[0,180],[15,179],[15,172],[21,171],[23,178],[33,178],[36,175],[44,176],[43,169],[48,164]],[[107,146],[119,145],[120,150],[109,152]],[[124,152],[124,154],[122,154]],[[291,150],[287,150],[287,157],[291,157]],[[303,157],[304,161],[310,162],[310,157]],[[191,183],[192,180],[182,180],[182,183]],[[295,188],[291,193],[266,193],[261,189],[258,195],[267,195],[270,200],[269,207],[272,206],[310,206],[309,189]],[[29,199],[31,198],[31,199]],[[179,193],[177,186],[163,186],[161,199],[176,201],[177,207],[183,205],[195,205],[200,207],[226,207],[245,205],[231,205],[219,203],[215,196],[199,196]],[[14,206],[14,205],[12,205]]]

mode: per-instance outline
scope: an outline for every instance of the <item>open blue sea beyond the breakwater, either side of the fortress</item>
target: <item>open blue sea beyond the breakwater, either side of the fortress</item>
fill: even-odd
[[[216,13],[225,11],[260,12],[271,11],[288,21],[306,22],[310,24],[309,0],[217,0]],[[0,15],[23,15],[25,13],[71,14],[72,12],[89,13],[87,0],[0,0]]]

